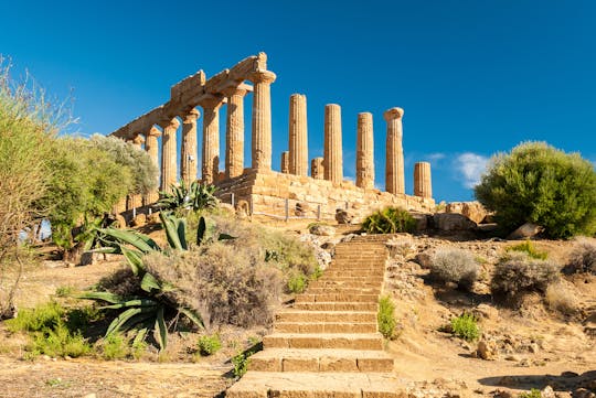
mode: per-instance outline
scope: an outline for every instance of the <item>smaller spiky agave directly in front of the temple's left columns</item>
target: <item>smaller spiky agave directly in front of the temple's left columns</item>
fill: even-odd
[[[171,185],[171,192],[160,192],[157,206],[166,211],[192,209],[193,212],[214,208],[217,198],[213,195],[217,189],[214,185],[200,184],[193,181],[189,186],[184,180],[179,185]]]

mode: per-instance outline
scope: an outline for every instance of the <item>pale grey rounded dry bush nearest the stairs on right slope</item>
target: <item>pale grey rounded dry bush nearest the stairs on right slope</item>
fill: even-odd
[[[479,265],[467,250],[438,249],[430,258],[430,276],[445,282],[455,282],[470,289],[478,279]]]

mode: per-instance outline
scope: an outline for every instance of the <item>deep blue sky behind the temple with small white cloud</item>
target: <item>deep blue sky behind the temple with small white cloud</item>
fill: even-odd
[[[13,74],[28,69],[51,97],[72,94],[83,135],[111,132],[167,101],[170,86],[198,69],[209,77],[264,51],[278,76],[276,169],[292,93],[307,95],[310,158],[322,154],[324,105],[341,105],[347,176],[356,115],[373,114],[381,187],[382,114],[404,108],[406,192],[414,162],[430,161],[438,201],[472,198],[487,158],[524,140],[596,161],[590,0],[30,0],[2,2],[0,22]]]

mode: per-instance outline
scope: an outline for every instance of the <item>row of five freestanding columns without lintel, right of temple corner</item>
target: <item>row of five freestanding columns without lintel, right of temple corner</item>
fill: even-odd
[[[405,194],[404,150],[402,146],[402,108],[391,108],[383,114],[386,130],[385,190],[392,194]],[[281,153],[281,172],[297,175],[308,173],[306,96],[294,94],[289,106],[289,151]],[[374,187],[373,118],[370,112],[358,115],[356,123],[356,186]],[[343,180],[341,143],[341,108],[337,104],[324,107],[323,158],[310,163],[311,176],[334,183]],[[430,164],[416,163],[414,174],[415,195],[432,197]]]

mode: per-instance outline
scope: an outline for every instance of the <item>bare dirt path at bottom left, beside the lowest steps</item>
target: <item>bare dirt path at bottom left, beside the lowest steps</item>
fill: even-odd
[[[232,379],[228,366],[0,356],[0,397],[214,397]]]

